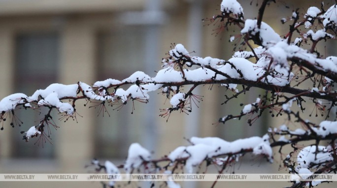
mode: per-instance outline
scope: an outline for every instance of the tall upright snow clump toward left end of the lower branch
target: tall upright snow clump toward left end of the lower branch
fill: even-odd
[[[124,169],[130,173],[133,169],[138,168],[143,161],[149,161],[151,153],[138,143],[133,143],[129,147],[128,158],[125,161]]]

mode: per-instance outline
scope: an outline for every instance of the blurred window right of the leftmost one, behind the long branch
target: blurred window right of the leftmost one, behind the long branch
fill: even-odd
[[[130,26],[101,32],[98,34],[97,42],[97,80],[107,78],[122,80],[141,70],[144,60],[141,27]],[[129,101],[119,112],[116,112],[117,106],[107,107],[110,117],[105,113],[104,117],[100,114],[97,118],[96,157],[125,157],[130,144],[139,141],[141,127],[138,126],[137,120],[140,118],[141,104],[135,102],[136,110],[131,114],[133,107],[131,103],[132,101]]]

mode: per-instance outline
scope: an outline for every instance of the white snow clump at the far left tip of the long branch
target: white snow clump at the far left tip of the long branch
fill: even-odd
[[[14,110],[16,105],[22,104],[27,98],[26,94],[11,94],[1,99],[0,112]]]

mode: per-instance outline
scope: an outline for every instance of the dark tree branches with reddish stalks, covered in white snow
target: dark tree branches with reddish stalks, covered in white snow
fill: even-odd
[[[189,51],[193,49],[187,50],[183,44],[173,44],[167,57],[162,60],[162,69],[154,77],[137,71],[121,81],[108,78],[93,85],[83,82],[51,84],[31,96],[6,96],[0,100],[1,130],[4,129],[4,122],[10,122],[13,127],[22,124],[16,117],[17,110],[45,108],[47,113],[43,114],[40,122],[21,133],[25,133],[23,138],[26,141],[33,137],[38,137],[37,141],[50,141],[49,126],[58,127],[51,112],[58,111],[60,119],[65,122],[68,119],[76,120],[78,101],[85,101],[85,105],[94,103],[95,107],[99,106],[99,113],[104,113],[109,107],[119,110],[129,103],[147,103],[150,92],[160,91],[169,99],[169,104],[160,109],[160,116],[168,121],[174,111],[189,114],[193,108],[199,107],[203,97],[207,96],[195,94],[196,88],[206,85],[226,87],[233,95],[226,94],[224,101],[219,102],[223,105],[240,95],[251,94],[251,88],[258,88],[263,94],[261,92],[254,96],[254,100],[246,104],[240,103],[242,107],[239,111],[224,115],[218,122],[225,124],[230,120],[246,118],[248,125],[253,126],[263,114],[285,118],[285,125],[270,127],[263,137],[233,142],[215,137],[192,137],[188,140],[191,145],[178,146],[159,159],[152,158],[147,149],[134,143],[122,165],[114,165],[110,161],[101,165],[98,160],[92,163],[97,171],[105,170],[106,173],[120,173],[119,169],[124,169],[126,173],[135,170],[144,173],[173,174],[179,173],[179,170],[191,173],[195,166],[202,163],[220,167],[218,173],[223,173],[247,153],[263,156],[272,162],[275,155],[272,148],[279,147],[283,167],[291,174],[336,173],[337,123],[336,118],[332,120],[330,116],[337,105],[337,57],[323,56],[318,44],[336,37],[337,5],[325,10],[322,3],[320,8],[305,8],[307,11],[303,14],[300,14],[300,8],[294,10],[280,21],[280,24],[290,22],[289,31],[280,35],[264,19],[265,11],[269,11],[269,6],[274,2],[263,0],[257,15],[245,19],[243,8],[237,0],[223,0],[221,12],[205,19],[219,25],[215,29],[217,33],[228,30],[229,26],[236,27],[236,35],[231,36],[229,41],[237,41],[240,50],[228,60],[194,56]],[[308,117],[312,115],[325,120],[310,122]],[[298,128],[292,130],[289,124]],[[321,141],[328,141],[328,144],[323,146]],[[305,144],[305,147],[300,147],[299,143]],[[284,155],[282,148],[286,146],[293,150]],[[163,162],[166,163],[163,165]],[[293,187],[310,187],[319,183],[293,182]],[[215,184],[216,181],[212,187]],[[110,187],[114,185],[115,182],[109,182]],[[172,181],[166,182],[166,185],[180,187]]]

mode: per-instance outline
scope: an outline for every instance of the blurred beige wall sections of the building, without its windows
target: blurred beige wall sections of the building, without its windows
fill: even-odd
[[[138,0],[97,0],[95,3],[91,0],[83,0],[78,3],[76,0],[71,1],[54,1],[54,0],[31,0],[27,2],[1,2],[0,3],[0,96],[4,97],[12,94],[15,88],[15,38],[21,33],[49,33],[56,32],[60,35],[60,62],[57,81],[62,84],[74,84],[78,81],[92,84],[100,77],[100,67],[98,66],[98,35],[101,32],[109,32],[121,26],[121,13],[126,10],[141,10],[145,1]],[[210,17],[219,9],[219,0],[208,0],[203,2],[202,17]],[[164,10],[167,14],[166,23],[160,26],[159,37],[159,57],[154,60],[153,66],[160,68],[161,58],[165,57],[170,49],[170,43],[188,43],[188,22],[189,8],[191,4],[188,1],[174,0],[165,1]],[[255,13],[255,9],[247,10],[247,16]],[[248,16],[249,17],[249,16]],[[204,26],[202,30],[202,52],[201,56],[211,56],[216,58],[229,59],[231,48],[226,48],[228,33],[218,36],[214,33],[212,26]],[[186,45],[185,45],[186,46]],[[188,47],[193,51],[193,47]],[[141,61],[140,61],[141,62]],[[123,63],[123,62],[117,62]],[[137,63],[137,62],[135,62]],[[139,62],[138,62],[139,63]],[[118,71],[118,70],[117,70]],[[200,104],[200,114],[198,135],[199,136],[224,136],[225,133],[219,133],[219,129],[226,131],[226,128],[219,128],[221,125],[213,125],[219,117],[225,115],[227,107],[219,105],[219,100],[224,99],[224,90],[214,86],[212,90],[204,87],[200,91],[204,95],[204,101]],[[40,88],[35,88],[40,89]],[[30,95],[30,94],[28,94]],[[219,99],[219,100],[217,100]],[[175,112],[171,114],[168,123],[166,119],[158,117],[160,108],[163,108],[164,97],[158,96],[155,99],[156,109],[150,113],[155,113],[154,121],[158,125],[157,129],[157,149],[154,156],[161,157],[167,155],[179,145],[187,144],[183,138],[187,135],[185,124],[186,115]],[[248,103],[250,100],[245,99]],[[167,101],[168,103],[168,101]],[[221,102],[220,102],[221,103]],[[129,104],[131,105],[131,104]],[[128,118],[132,121],[138,121],[139,114],[145,104],[137,106],[135,114]],[[167,104],[166,104],[167,105]],[[139,110],[139,112],[137,111]],[[227,109],[228,111],[228,109]],[[68,121],[66,123],[58,122],[60,128],[52,135],[55,138],[55,156],[52,158],[12,158],[11,151],[17,148],[12,147],[12,137],[21,130],[19,127],[11,128],[4,125],[5,129],[0,132],[0,173],[86,173],[90,172],[85,169],[84,165],[90,163],[93,157],[96,157],[95,151],[99,146],[95,145],[97,124],[100,122],[95,109],[88,109],[81,103],[78,104],[77,112],[83,118],[77,116],[77,121]],[[110,110],[110,113],[121,113]],[[198,116],[197,116],[198,117]],[[106,117],[104,117],[106,118]],[[114,120],[112,120],[114,121]],[[234,126],[236,123],[232,124]],[[261,124],[265,124],[261,122]],[[244,126],[245,123],[239,123]],[[120,125],[123,126],[123,125]],[[130,125],[139,128],[140,125]],[[232,126],[232,125],[231,125]],[[20,129],[20,130],[19,130]],[[253,128],[254,129],[254,128]],[[258,128],[257,128],[258,129]],[[138,129],[137,129],[138,130]],[[141,130],[141,128],[140,128]],[[248,136],[250,130],[245,128],[233,129],[232,131],[246,131],[240,133],[243,137]],[[255,129],[254,129],[255,130]],[[248,132],[248,133],[247,133]],[[149,136],[147,132],[140,133],[141,136]],[[260,133],[262,134],[262,133]],[[196,135],[196,136],[198,136]],[[224,137],[226,139],[226,137]],[[238,139],[238,138],[237,138]],[[21,140],[19,140],[21,141]],[[33,141],[33,140],[32,140]],[[33,141],[34,142],[34,141]],[[139,139],[142,142],[142,139]],[[47,143],[48,144],[48,143]],[[112,148],[121,150],[120,148]],[[39,148],[43,150],[43,148]],[[124,154],[127,156],[127,153]],[[108,158],[121,164],[124,158]],[[248,164],[250,161],[244,161]],[[256,172],[259,168],[261,172],[275,172],[277,164],[267,167],[242,167],[243,170]],[[254,168],[254,170],[253,170]],[[260,184],[260,183],[259,183]],[[88,183],[0,183],[7,187],[21,186],[26,187],[88,187]],[[100,187],[99,183],[91,184],[92,187]],[[228,184],[230,185],[230,184]],[[235,185],[235,184],[234,184]],[[249,186],[252,184],[240,184]],[[269,187],[268,184],[262,186]]]

